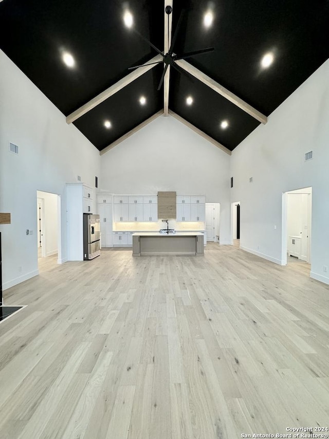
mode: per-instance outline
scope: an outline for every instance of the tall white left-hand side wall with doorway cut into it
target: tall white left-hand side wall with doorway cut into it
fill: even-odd
[[[98,150],[0,51],[0,225],[4,289],[38,274],[36,190],[61,196],[61,255],[66,260],[65,182],[90,186],[100,173]],[[19,155],[9,152],[9,143]],[[26,235],[26,229],[35,231]],[[21,271],[19,271],[21,267]]]

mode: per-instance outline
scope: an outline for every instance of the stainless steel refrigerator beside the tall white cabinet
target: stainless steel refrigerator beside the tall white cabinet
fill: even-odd
[[[99,215],[83,214],[83,259],[94,259],[100,251]]]

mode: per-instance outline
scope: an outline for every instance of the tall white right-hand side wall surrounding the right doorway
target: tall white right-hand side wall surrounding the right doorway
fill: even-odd
[[[241,248],[278,264],[283,263],[286,239],[282,192],[312,186],[311,276],[325,283],[329,283],[323,272],[323,266],[329,266],[328,77],[329,60],[231,156],[231,200],[241,201]],[[305,162],[304,154],[312,149],[313,160]]]

